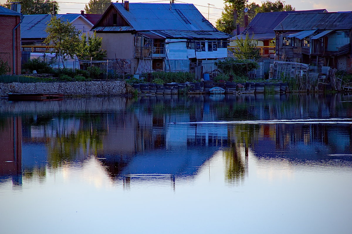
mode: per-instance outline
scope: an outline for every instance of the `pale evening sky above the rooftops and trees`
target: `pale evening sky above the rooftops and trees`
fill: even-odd
[[[65,13],[80,13],[81,10],[84,10],[85,4],[89,0],[57,0],[60,6],[60,14]],[[115,0],[116,1],[116,0]],[[121,2],[122,0],[119,0]],[[271,0],[275,1],[275,0]],[[1,3],[6,2],[6,0],[0,0]],[[72,3],[68,3],[72,2]],[[130,3],[133,2],[159,2],[159,3],[169,3],[169,0],[157,1],[157,0],[130,0]],[[261,5],[261,1],[249,0],[249,3],[256,2]],[[176,1],[175,3],[193,3],[199,11],[208,19],[208,10],[209,10],[209,21],[215,25],[216,19],[221,16],[222,8],[224,7],[223,0],[181,0]],[[210,8],[208,8],[208,4]],[[311,10],[311,9],[327,9],[328,12],[334,11],[352,11],[352,1],[351,0],[286,0],[285,4],[290,4],[296,8],[296,11],[302,10]]]

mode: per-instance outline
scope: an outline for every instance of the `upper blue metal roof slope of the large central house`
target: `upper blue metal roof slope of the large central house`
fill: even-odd
[[[112,4],[136,31],[182,30],[217,31],[193,4],[130,3]]]

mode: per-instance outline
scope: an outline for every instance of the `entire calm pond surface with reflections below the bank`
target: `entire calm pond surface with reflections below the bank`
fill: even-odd
[[[351,233],[351,143],[348,95],[0,99],[0,233]]]

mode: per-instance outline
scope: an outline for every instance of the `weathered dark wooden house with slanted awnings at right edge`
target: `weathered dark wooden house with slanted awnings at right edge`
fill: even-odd
[[[351,12],[289,14],[274,31],[277,59],[352,73]]]

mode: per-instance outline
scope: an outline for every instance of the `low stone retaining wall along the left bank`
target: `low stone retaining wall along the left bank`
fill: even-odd
[[[0,96],[8,93],[62,93],[68,95],[119,95],[126,93],[124,81],[77,81],[53,83],[0,83]]]

